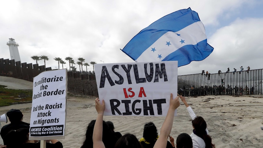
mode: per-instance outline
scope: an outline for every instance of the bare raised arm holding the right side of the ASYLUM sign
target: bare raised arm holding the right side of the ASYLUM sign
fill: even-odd
[[[167,146],[167,138],[171,133],[173,120],[175,116],[175,109],[180,106],[179,97],[177,96],[173,99],[173,94],[170,96],[170,106],[168,109],[168,113],[164,120],[164,123],[160,130],[159,138],[157,139],[156,143],[154,144],[153,148],[159,147],[166,147]]]

